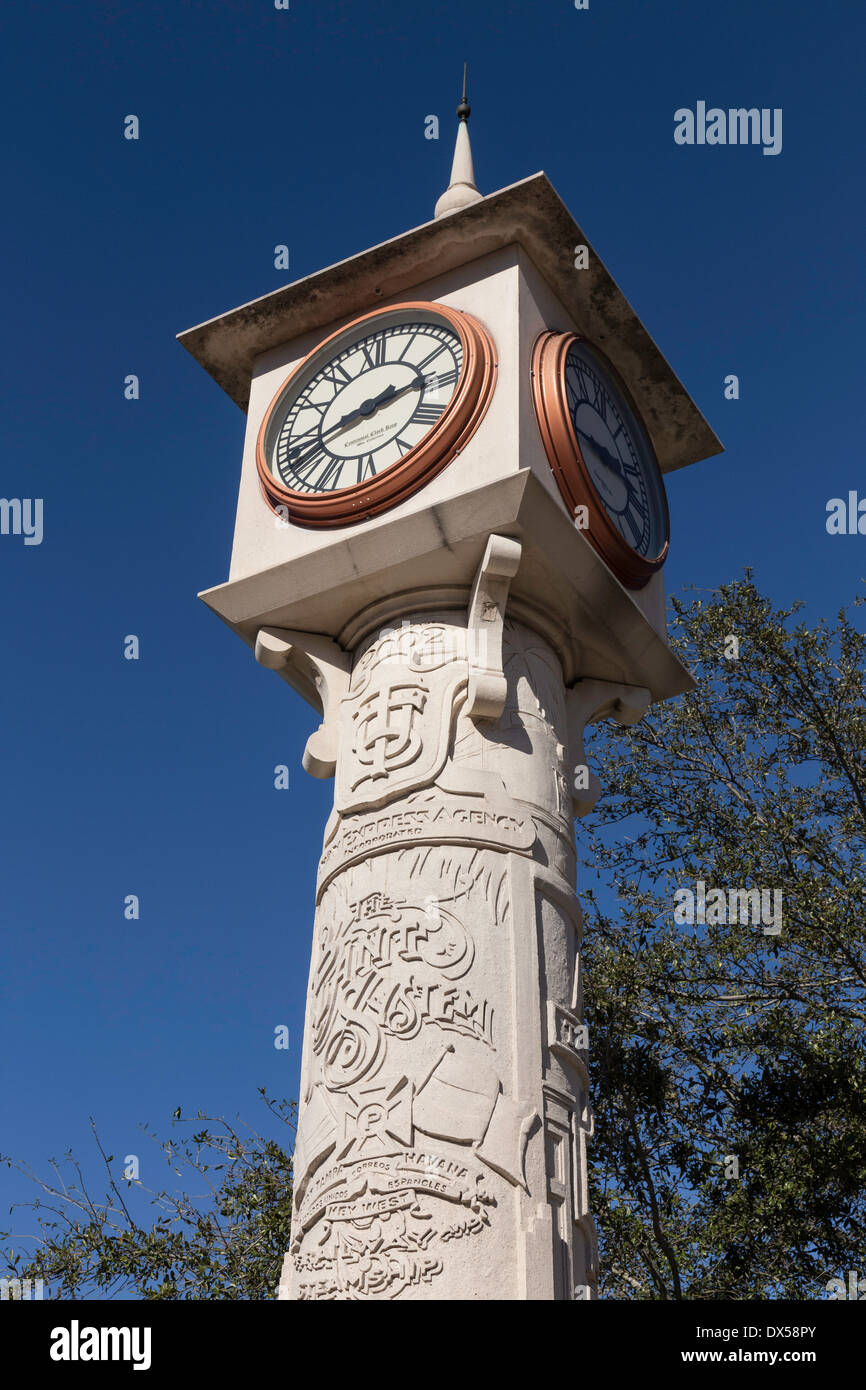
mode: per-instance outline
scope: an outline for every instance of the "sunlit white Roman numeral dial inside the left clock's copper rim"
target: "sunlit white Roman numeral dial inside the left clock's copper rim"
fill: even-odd
[[[265,456],[293,492],[332,493],[392,468],[436,424],[457,389],[463,345],[445,318],[379,314],[331,343],[278,403]]]

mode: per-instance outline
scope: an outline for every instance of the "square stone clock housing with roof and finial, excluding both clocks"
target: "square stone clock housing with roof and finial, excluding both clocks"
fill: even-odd
[[[455,170],[459,158],[460,139]],[[623,582],[574,524],[537,416],[539,339],[574,334],[601,349],[663,474],[721,445],[545,174],[481,197],[468,158],[434,221],[179,335],[247,414],[231,577],[200,596],[249,646],[260,628],[279,627],[350,651],[377,623],[410,612],[413,592],[428,606],[466,603],[496,532],[523,548],[510,605],[537,614],[566,682],[612,680],[667,698],[692,681],[664,641],[660,569],[642,587]],[[339,525],[303,524],[291,510],[281,520],[257,464],[271,402],[320,342],[406,303],[481,325],[495,386],[480,423],[445,467],[386,509]]]

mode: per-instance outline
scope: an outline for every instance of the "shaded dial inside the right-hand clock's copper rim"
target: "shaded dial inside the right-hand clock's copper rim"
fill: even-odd
[[[601,359],[569,348],[566,395],[581,457],[605,512],[632,550],[648,559],[667,541],[659,466],[644,431]]]

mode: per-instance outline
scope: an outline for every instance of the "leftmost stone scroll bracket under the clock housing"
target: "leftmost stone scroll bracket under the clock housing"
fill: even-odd
[[[311,777],[334,777],[339,702],[349,691],[352,657],[322,632],[260,627],[256,660],[282,676],[322,716],[316,733],[307,738],[302,763]]]

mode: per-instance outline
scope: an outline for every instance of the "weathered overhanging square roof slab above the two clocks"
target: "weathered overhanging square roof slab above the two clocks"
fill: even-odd
[[[178,334],[178,342],[246,410],[256,360],[289,339],[414,292],[421,281],[521,246],[563,307],[627,381],[662,473],[721,453],[721,443],[592,250],[546,174],[393,236]],[[575,247],[588,265],[577,271]]]

